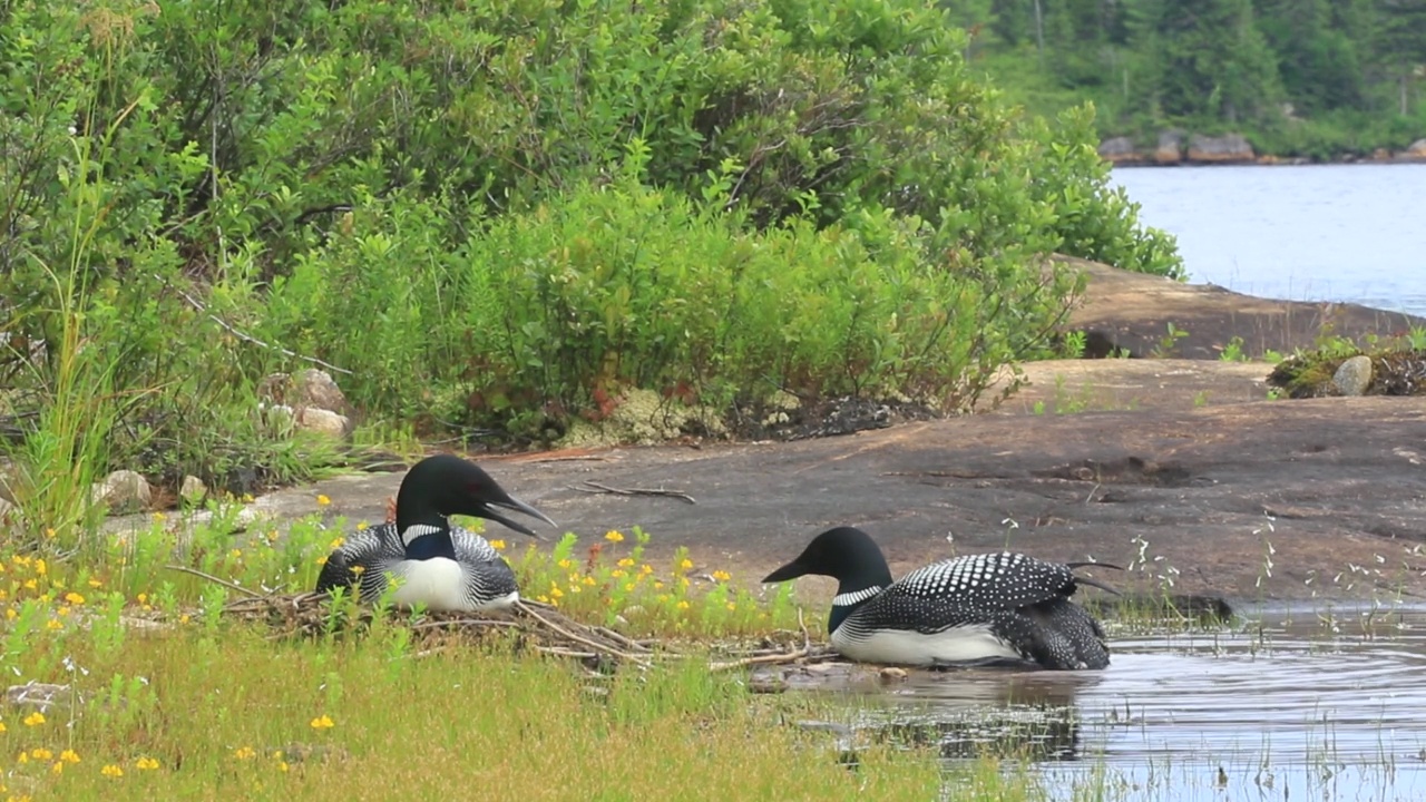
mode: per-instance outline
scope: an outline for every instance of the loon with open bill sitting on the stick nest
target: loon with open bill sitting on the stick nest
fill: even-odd
[[[472,515],[539,538],[496,508],[555,525],[473,462],[452,454],[428,457],[401,481],[396,522],[347,538],[322,565],[317,592],[355,587],[362,601],[374,602],[386,592],[391,575],[399,581],[392,594],[396,606],[465,612],[512,606],[520,597],[509,564],[485,538],[448,521],[449,515]]]

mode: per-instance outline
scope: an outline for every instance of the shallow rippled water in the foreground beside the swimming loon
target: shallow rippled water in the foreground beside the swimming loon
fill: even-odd
[[[1052,799],[1426,799],[1426,608],[1115,635],[1104,672],[915,672],[854,739],[1024,756]]]

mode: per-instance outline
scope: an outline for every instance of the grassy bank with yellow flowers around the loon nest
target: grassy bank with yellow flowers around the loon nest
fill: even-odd
[[[596,549],[573,565],[566,538],[516,559],[522,584],[562,589],[570,615],[613,611],[692,655],[593,674],[518,635],[436,645],[402,616],[361,635],[275,636],[224,616],[237,594],[222,584],[164,567],[307,589],[341,527],[304,521],[277,545],[234,541],[220,522],[184,547],[171,528],[155,521],[84,561],[0,552],[7,682],[58,686],[48,705],[0,708],[0,799],[1034,798],[990,759],[945,776],[931,752],[870,746],[843,765],[826,734],[791,725],[823,702],[753,696],[694,646],[786,626],[787,595],[733,591],[722,572],[690,588],[682,558],[643,564],[637,535],[599,541],[619,558]],[[662,612],[639,618],[660,597]]]

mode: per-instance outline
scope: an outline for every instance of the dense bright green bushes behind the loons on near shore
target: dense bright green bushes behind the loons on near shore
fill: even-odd
[[[964,44],[911,0],[0,4],[0,412],[222,479],[309,461],[252,398],[291,352],[425,427],[963,407],[1062,314],[1044,254],[1179,270]]]

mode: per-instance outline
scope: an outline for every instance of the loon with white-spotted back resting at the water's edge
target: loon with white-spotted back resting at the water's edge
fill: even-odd
[[[1077,577],[1072,569],[1084,565],[1091,564],[975,554],[893,582],[877,544],[861,529],[838,527],[763,581],[807,574],[837,579],[827,632],[838,654],[858,662],[1098,669],[1109,665],[1104,629],[1070,597],[1081,584],[1117,591]]]

